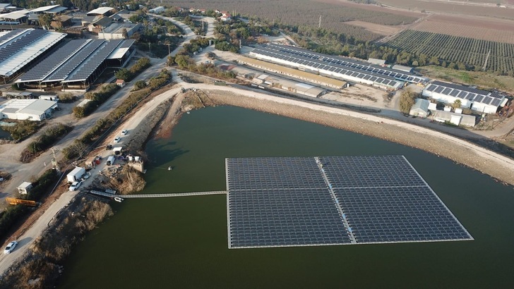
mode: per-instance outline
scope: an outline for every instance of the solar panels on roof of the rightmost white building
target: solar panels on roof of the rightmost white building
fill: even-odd
[[[499,106],[503,97],[497,93],[487,92],[485,90],[478,90],[473,87],[464,85],[455,85],[453,83],[434,81],[428,85],[425,90],[429,92],[436,92],[439,94],[449,95],[451,97],[458,97],[460,99],[467,99],[470,102],[480,102],[482,104],[490,104],[492,106]]]

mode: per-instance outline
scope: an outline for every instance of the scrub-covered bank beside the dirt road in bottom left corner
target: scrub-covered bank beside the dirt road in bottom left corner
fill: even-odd
[[[52,288],[64,270],[61,264],[71,248],[97,223],[112,214],[111,207],[103,199],[77,195],[35,240],[23,261],[6,271],[0,288]]]

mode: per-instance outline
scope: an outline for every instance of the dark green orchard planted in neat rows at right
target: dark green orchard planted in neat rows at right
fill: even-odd
[[[492,42],[417,30],[405,30],[387,42],[388,46],[410,52],[437,56],[450,62],[482,67],[491,51],[486,70],[508,73],[514,71],[514,44]]]

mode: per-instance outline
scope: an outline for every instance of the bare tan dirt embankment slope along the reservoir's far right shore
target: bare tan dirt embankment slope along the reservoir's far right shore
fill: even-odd
[[[479,156],[479,154],[474,152],[469,146],[458,144],[441,137],[434,137],[434,135],[428,135],[422,133],[422,131],[410,130],[398,125],[367,121],[352,116],[317,111],[300,106],[257,100],[226,91],[206,90],[205,93],[208,94],[209,100],[214,104],[241,106],[247,109],[275,113],[281,116],[297,118],[311,123],[319,123],[342,130],[349,130],[354,133],[378,137],[390,142],[422,149],[426,152],[431,152],[432,154],[443,156],[460,164],[464,164],[465,166],[469,166],[470,168],[474,168],[477,171],[486,173],[505,183],[514,185],[514,174],[507,165],[503,166],[500,162],[491,164],[491,161]]]

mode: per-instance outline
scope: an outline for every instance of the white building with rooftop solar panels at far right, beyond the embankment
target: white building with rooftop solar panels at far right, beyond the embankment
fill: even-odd
[[[481,113],[496,113],[498,107],[504,106],[507,102],[506,97],[496,92],[441,81],[431,82],[424,88],[422,94],[424,97],[431,97],[446,104],[453,104],[459,99],[462,108]]]

